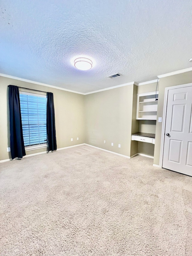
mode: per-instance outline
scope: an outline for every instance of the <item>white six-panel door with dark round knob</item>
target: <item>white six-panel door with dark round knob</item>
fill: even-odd
[[[192,86],[168,91],[163,168],[192,176]]]

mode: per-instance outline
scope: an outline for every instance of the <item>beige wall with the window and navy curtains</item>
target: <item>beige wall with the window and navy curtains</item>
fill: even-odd
[[[0,160],[11,158],[10,147],[8,85],[52,92],[55,105],[55,127],[57,148],[85,143],[85,95],[66,92],[46,86],[0,77]],[[79,140],[77,141],[77,137]],[[71,138],[73,141],[71,142]],[[44,152],[46,149],[27,151],[26,154]]]

